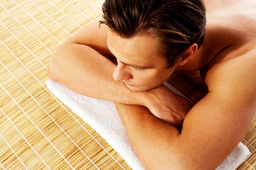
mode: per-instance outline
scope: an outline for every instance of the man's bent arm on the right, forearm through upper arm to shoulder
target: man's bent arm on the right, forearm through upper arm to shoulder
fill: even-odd
[[[256,114],[254,56],[227,61],[212,71],[210,92],[188,112],[181,132],[143,106],[115,103],[147,170],[215,170],[224,161]]]

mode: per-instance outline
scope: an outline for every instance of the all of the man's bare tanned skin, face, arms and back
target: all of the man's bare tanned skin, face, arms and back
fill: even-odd
[[[97,23],[72,35],[49,63],[51,79],[87,96],[113,99],[147,170],[215,170],[236,148],[255,116],[256,2],[205,0],[205,5],[205,42],[199,50],[192,45],[170,69],[164,69],[166,63],[158,54],[154,37],[124,39],[106,26],[98,28]],[[71,55],[71,51],[77,53]],[[102,55],[112,57],[109,51],[117,62],[103,59]],[[94,58],[86,57],[85,62],[81,53]],[[95,58],[98,64],[90,66]],[[136,70],[123,63],[153,68]],[[72,73],[67,71],[70,65],[74,66]],[[89,74],[88,70],[94,72]],[[175,71],[200,71],[208,86],[209,93],[192,108],[160,85]],[[182,114],[180,130],[173,120]]]

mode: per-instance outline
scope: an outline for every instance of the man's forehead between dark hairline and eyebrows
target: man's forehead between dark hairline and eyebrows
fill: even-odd
[[[107,46],[109,50],[123,62],[155,65],[159,64],[160,61],[165,61],[165,59],[158,54],[158,45],[155,38],[149,34],[122,38],[108,30]]]

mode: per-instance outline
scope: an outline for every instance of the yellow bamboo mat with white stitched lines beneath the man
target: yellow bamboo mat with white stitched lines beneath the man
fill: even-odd
[[[102,0],[0,1],[0,169],[131,170],[119,154],[46,87],[53,51],[101,16]],[[207,87],[195,73],[169,82],[195,104]],[[241,140],[255,170],[255,119]]]

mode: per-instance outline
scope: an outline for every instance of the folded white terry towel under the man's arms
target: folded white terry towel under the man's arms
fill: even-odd
[[[49,90],[65,103],[74,113],[88,123],[111,145],[134,170],[145,170],[137,157],[125,128],[113,102],[90,98],[68,89],[51,79],[46,82]],[[173,86],[164,83],[178,95],[182,95]],[[183,96],[185,97],[185,96]],[[217,170],[235,170],[251,153],[241,142],[217,168]]]

